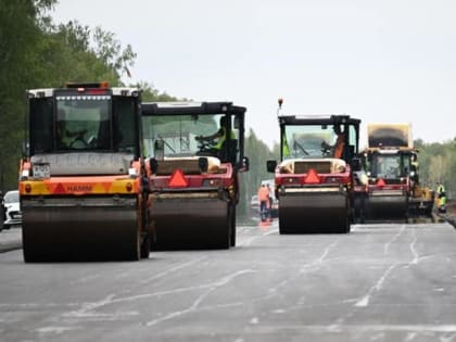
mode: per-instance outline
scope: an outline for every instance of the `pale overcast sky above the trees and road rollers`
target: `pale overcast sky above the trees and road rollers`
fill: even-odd
[[[244,105],[248,127],[269,145],[279,97],[283,114],[411,123],[427,142],[456,137],[456,1],[59,2],[55,23],[101,26],[132,46],[124,81]]]

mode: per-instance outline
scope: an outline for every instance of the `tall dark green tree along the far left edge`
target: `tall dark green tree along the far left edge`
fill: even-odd
[[[24,138],[25,89],[34,84],[45,16],[54,0],[2,1],[0,5],[0,188],[17,183]]]

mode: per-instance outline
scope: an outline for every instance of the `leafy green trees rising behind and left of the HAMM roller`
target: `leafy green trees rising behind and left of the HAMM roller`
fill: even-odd
[[[136,53],[112,33],[73,21],[55,26],[47,12],[55,0],[2,1],[0,7],[0,189],[17,187],[25,136],[26,89],[66,81],[107,80],[134,65]],[[8,123],[8,124],[5,124]]]

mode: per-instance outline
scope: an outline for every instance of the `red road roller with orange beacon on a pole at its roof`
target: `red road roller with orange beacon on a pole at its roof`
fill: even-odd
[[[353,167],[360,119],[349,115],[282,115],[275,173],[280,233],[350,232]]]

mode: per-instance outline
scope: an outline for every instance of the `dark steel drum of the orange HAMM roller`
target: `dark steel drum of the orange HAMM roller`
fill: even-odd
[[[136,199],[22,203],[25,262],[139,259]]]

